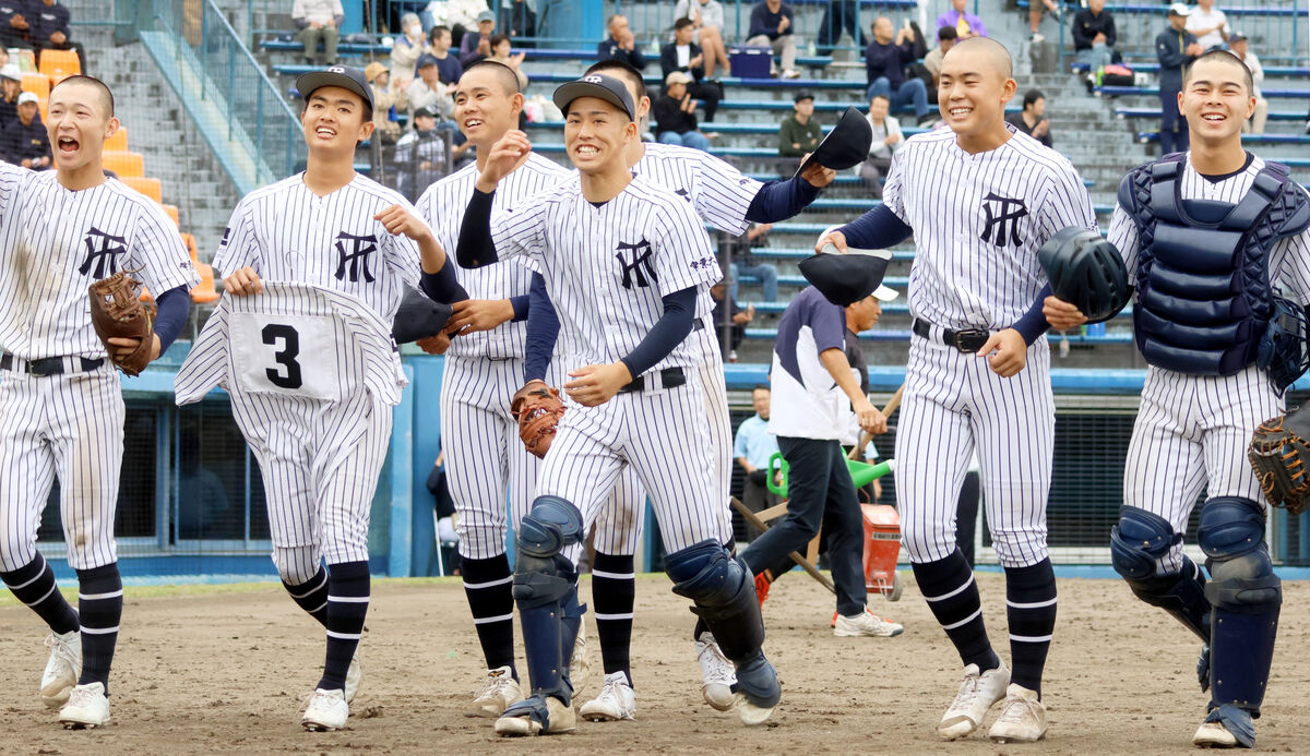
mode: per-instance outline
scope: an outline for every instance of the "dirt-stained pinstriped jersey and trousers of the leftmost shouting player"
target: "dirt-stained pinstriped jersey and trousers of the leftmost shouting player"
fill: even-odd
[[[9,207],[0,207],[0,352],[18,360],[62,358],[66,373],[7,370],[0,379],[0,565],[35,558],[37,527],[54,476],[75,569],[117,561],[114,510],[123,456],[124,407],[90,323],[88,286],[121,269],[156,294],[199,283],[164,209],[115,179],[80,191],[55,171],[21,184],[7,171]],[[3,195],[4,190],[0,190]]]

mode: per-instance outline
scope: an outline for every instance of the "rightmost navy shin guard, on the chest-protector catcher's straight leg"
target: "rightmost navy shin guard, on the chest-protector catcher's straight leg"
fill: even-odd
[[[1210,709],[1237,706],[1260,715],[1273,662],[1282,582],[1264,543],[1264,511],[1238,497],[1216,497],[1201,507],[1196,532],[1210,582]]]

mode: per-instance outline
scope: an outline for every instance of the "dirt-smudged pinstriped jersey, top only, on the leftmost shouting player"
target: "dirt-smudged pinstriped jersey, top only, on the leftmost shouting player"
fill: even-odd
[[[200,283],[164,208],[117,179],[80,191],[33,174],[10,199],[12,263],[0,269],[0,351],[25,360],[105,357],[86,289],[136,269],[156,296]]]

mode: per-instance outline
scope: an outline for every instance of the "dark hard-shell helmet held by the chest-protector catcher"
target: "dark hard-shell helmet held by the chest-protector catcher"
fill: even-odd
[[[1108,320],[1128,303],[1131,288],[1124,258],[1093,229],[1069,226],[1038,250],[1052,293],[1078,307],[1087,320]]]

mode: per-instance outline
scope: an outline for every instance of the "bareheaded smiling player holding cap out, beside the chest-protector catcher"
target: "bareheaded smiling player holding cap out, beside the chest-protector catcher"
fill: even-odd
[[[938,90],[950,128],[910,137],[892,162],[884,204],[819,241],[876,249],[914,237],[896,501],[914,578],[965,666],[937,729],[947,740],[973,732],[1001,698],[992,739],[1030,742],[1047,730],[1055,402],[1036,251],[1066,226],[1094,229],[1095,217],[1069,161],[1005,123],[1014,89],[1000,43],[951,48]],[[992,649],[973,573],[955,545],[955,502],[975,449],[1005,568],[1013,672]]]

